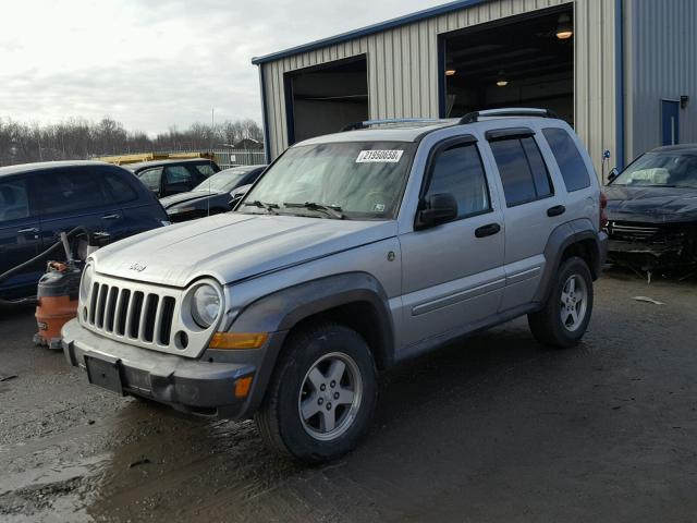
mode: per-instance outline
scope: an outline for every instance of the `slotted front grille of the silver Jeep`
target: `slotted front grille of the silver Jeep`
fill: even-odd
[[[106,335],[169,346],[176,299],[96,281],[86,321]]]

